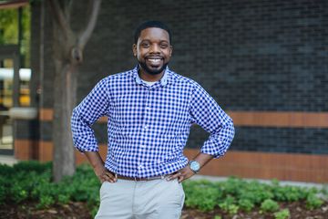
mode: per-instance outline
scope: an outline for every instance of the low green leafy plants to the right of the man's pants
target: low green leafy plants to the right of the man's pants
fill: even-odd
[[[208,212],[216,207],[228,214],[239,210],[251,212],[259,207],[262,213],[275,213],[275,218],[289,214],[288,209],[280,211],[278,203],[305,201],[308,209],[319,208],[323,200],[315,188],[282,186],[278,181],[259,183],[229,178],[227,181],[211,183],[208,181],[187,181],[184,183],[186,206]],[[287,218],[287,217],[286,217]]]

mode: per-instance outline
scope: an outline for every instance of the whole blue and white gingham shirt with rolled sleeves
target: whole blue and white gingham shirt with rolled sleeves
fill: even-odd
[[[73,110],[73,141],[79,151],[98,151],[92,124],[108,117],[108,154],[105,167],[119,175],[151,177],[176,172],[188,164],[183,155],[190,126],[210,132],[202,153],[215,158],[229,148],[231,118],[190,78],[166,68],[148,86],[138,67],[108,76]]]

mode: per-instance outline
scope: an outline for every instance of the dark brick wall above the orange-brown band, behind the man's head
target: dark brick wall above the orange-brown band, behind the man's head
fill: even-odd
[[[99,78],[134,66],[135,26],[159,19],[173,32],[170,67],[225,109],[328,110],[327,1],[105,1],[102,8],[80,99]]]

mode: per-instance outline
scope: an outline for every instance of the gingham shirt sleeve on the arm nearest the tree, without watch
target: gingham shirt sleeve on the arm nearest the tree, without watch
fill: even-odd
[[[108,112],[108,78],[99,81],[94,89],[73,110],[71,130],[78,151],[98,151],[92,124]]]

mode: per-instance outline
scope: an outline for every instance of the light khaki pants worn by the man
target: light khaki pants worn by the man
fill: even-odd
[[[179,219],[184,197],[182,184],[177,180],[104,182],[95,218]]]

